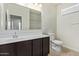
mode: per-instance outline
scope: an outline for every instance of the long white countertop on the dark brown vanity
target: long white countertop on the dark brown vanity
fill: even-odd
[[[0,38],[0,45],[3,44],[9,44],[9,43],[15,43],[15,42],[20,42],[20,41],[26,41],[26,40],[33,40],[33,39],[38,39],[38,38],[43,38],[43,37],[49,37],[49,35],[26,35],[26,36],[18,36],[18,38]]]

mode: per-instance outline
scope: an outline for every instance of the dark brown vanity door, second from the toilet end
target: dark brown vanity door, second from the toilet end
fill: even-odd
[[[42,55],[42,39],[33,40],[33,56]]]

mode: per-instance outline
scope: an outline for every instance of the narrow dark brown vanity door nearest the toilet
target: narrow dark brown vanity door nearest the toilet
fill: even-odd
[[[42,39],[43,39],[43,56],[46,56],[49,53],[49,37]]]

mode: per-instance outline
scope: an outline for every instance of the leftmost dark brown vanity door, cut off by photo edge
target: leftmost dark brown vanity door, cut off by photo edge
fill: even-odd
[[[0,56],[15,56],[15,44],[0,45]]]

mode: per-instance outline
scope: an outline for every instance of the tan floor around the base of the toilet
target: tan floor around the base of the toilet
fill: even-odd
[[[79,52],[62,47],[61,52],[55,52],[50,49],[49,56],[79,56]]]

